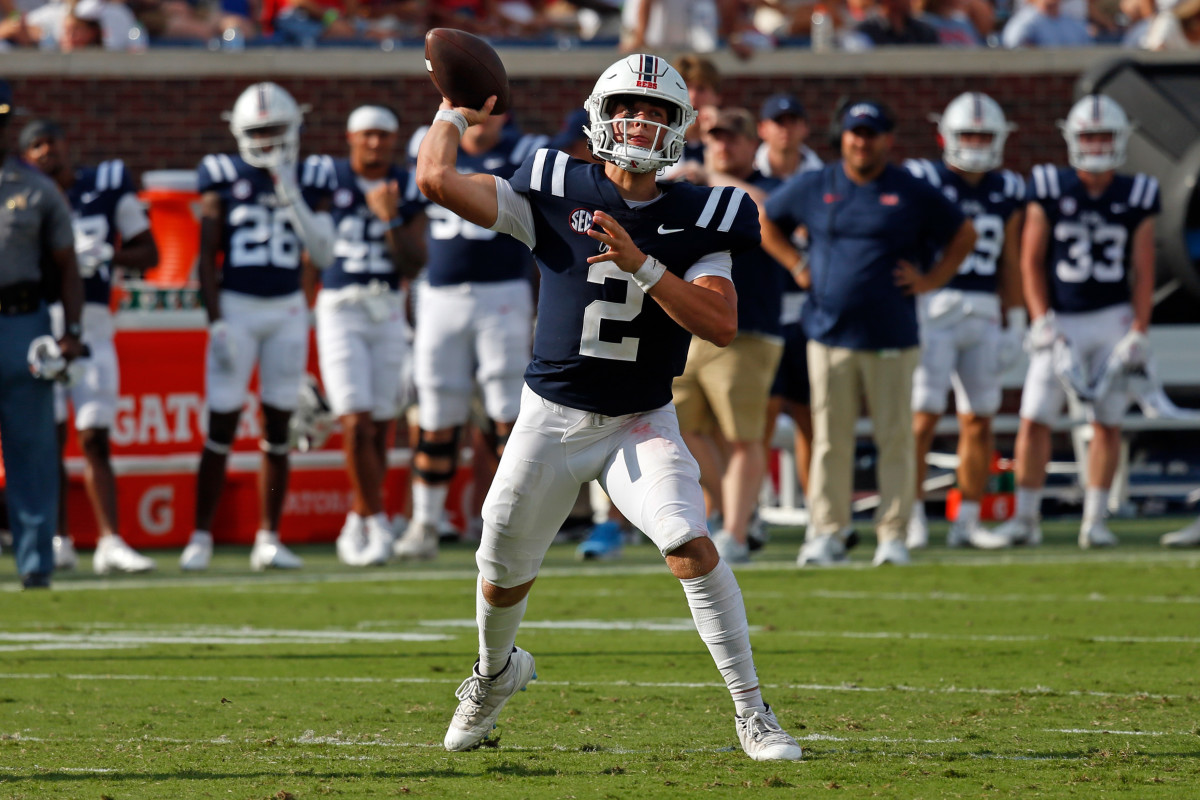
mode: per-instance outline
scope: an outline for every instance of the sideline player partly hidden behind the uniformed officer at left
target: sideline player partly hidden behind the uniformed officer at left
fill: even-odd
[[[142,555],[121,539],[116,521],[116,476],[110,461],[109,428],[116,417],[120,368],[113,344],[113,312],[109,311],[113,269],[144,271],[158,263],[158,248],[150,221],[138,200],[133,180],[121,161],[96,167],[71,163],[62,128],[50,120],[34,120],[18,139],[22,157],[59,185],[71,204],[76,261],[83,281],[83,343],[90,351],[79,360],[83,374],[70,389],[55,385],[59,422],[59,458],[67,438],[67,398],[74,407],[76,434],[84,456],[84,486],[91,503],[100,539],[92,557],[96,575],[148,572],[154,559]],[[52,307],[60,329],[61,306]],[[66,522],[66,471],[59,495],[59,535],[54,537],[54,566],[73,570],[78,564]]]

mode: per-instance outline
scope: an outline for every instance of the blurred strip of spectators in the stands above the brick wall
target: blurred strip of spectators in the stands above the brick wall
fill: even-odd
[[[1200,47],[1196,0],[0,0],[0,49],[419,42],[431,28],[624,52]]]

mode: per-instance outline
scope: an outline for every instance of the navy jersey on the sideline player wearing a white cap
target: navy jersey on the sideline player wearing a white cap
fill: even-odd
[[[400,167],[388,168],[386,178],[400,185],[401,200],[396,207],[401,224],[421,212],[419,203],[406,200],[412,194],[413,178]],[[334,263],[320,275],[326,289],[341,289],[356,283],[383,281],[392,289],[400,285],[396,261],[388,249],[388,227],[367,207],[365,188],[371,182],[355,174],[349,158],[308,156],[300,174],[300,186],[325,190],[331,194],[330,216],[337,239],[334,242]]]

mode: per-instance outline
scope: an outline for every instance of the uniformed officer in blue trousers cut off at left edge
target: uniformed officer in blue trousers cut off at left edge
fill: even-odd
[[[17,571],[26,589],[44,589],[54,570],[59,507],[50,380],[83,351],[83,281],[62,193],[36,169],[8,157],[12,113],[12,90],[0,80],[0,441]],[[43,273],[43,265],[53,275]],[[56,343],[49,338],[52,294],[61,295],[66,319],[66,333]]]

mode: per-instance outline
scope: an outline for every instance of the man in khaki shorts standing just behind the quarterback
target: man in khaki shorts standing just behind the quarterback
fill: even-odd
[[[740,190],[761,209],[767,192],[780,180],[755,170],[755,115],[744,108],[721,109],[706,131],[704,143],[706,184]],[[784,351],[779,319],[786,276],[762,247],[755,246],[733,254],[732,277],[738,293],[737,336],[724,348],[694,336],[672,393],[679,429],[716,505],[709,511],[722,517],[713,543],[721,558],[739,564],[750,559],[746,530],[767,474],[763,434],[767,398]],[[727,444],[727,457],[715,433]]]

